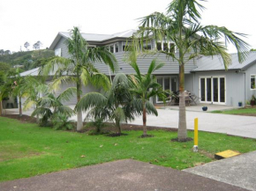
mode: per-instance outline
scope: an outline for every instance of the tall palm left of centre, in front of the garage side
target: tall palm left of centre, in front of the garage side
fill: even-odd
[[[78,27],[74,27],[70,33],[71,37],[65,41],[70,58],[56,57],[48,62],[43,68],[44,75],[49,72],[56,74],[53,87],[69,81],[77,85],[77,102],[81,98],[82,84],[93,84],[96,87],[107,90],[109,78],[94,68],[94,62],[104,62],[114,72],[117,69],[117,60],[107,48],[89,48]],[[60,76],[60,77],[58,77]],[[83,128],[82,112],[77,111],[77,130]]]

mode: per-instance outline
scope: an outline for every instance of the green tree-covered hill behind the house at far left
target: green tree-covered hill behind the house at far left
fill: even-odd
[[[12,54],[0,54],[0,62],[10,64],[11,68],[23,65],[21,70],[31,70],[48,62],[52,56],[54,56],[54,51],[49,49],[22,51]]]

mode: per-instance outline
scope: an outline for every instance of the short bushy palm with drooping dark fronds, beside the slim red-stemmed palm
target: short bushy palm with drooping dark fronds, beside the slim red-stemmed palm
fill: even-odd
[[[108,92],[89,92],[83,96],[76,106],[87,113],[86,119],[93,118],[94,121],[114,121],[117,133],[121,135],[122,122],[134,120],[139,114],[132,102],[132,94],[129,91],[128,77],[119,73],[113,80]]]

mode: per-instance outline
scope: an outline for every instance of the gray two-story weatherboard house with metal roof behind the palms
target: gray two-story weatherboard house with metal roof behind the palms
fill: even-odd
[[[82,36],[87,40],[89,46],[98,47],[106,46],[116,56],[119,65],[119,71],[124,74],[132,74],[134,70],[132,67],[124,62],[124,48],[126,41],[132,36],[134,30],[125,31],[114,34],[94,34],[82,33]],[[64,41],[69,38],[69,33],[58,33],[55,40],[50,45],[49,49],[55,51],[58,56],[69,57],[67,47]],[[145,45],[146,46],[146,45]],[[173,48],[175,46],[172,42],[163,42],[152,40],[147,43],[147,49],[165,49]],[[174,48],[173,48],[174,50]],[[175,51],[175,50],[174,50]],[[177,53],[176,53],[177,54]],[[256,52],[251,52],[247,60],[239,63],[237,55],[232,54],[232,62],[229,70],[225,71],[222,63],[222,58],[219,55],[215,56],[200,56],[197,59],[187,62],[185,64],[185,90],[194,93],[200,99],[200,103],[220,104],[237,107],[239,101],[245,105],[246,100],[250,100],[252,95],[256,92]],[[147,55],[138,59],[139,70],[147,72],[149,63],[156,58],[160,62],[165,62],[164,67],[154,72],[159,84],[162,84],[164,90],[171,90],[177,92],[178,90],[178,62],[172,59],[167,59],[166,55]],[[103,63],[95,62],[94,66],[108,76],[115,76],[111,73],[109,67]],[[26,71],[22,75],[38,74],[38,69]],[[75,84],[62,84],[60,90],[56,92],[59,94],[63,92],[68,86],[75,86]],[[87,85],[83,87],[83,93],[97,91],[94,87]],[[76,99],[71,99],[68,105],[76,103]],[[161,103],[161,100],[154,99],[154,103]]]

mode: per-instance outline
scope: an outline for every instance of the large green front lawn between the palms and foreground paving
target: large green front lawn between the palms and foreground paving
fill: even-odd
[[[0,181],[124,158],[184,169],[212,161],[217,151],[256,150],[253,139],[222,134],[200,132],[200,152],[195,153],[192,142],[170,142],[177,132],[149,131],[153,138],[139,138],[142,131],[125,133],[128,136],[88,136],[0,117]]]

